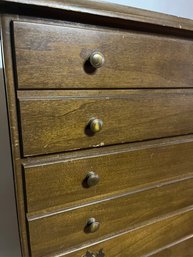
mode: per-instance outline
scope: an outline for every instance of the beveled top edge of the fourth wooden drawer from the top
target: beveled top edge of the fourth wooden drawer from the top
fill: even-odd
[[[67,207],[67,208],[61,208],[61,209],[50,211],[50,212],[42,211],[42,212],[38,212],[38,214],[31,214],[31,215],[27,213],[26,217],[27,217],[28,222],[34,221],[34,220],[39,220],[39,219],[44,219],[44,218],[47,218],[47,217],[50,217],[50,216],[55,216],[55,215],[58,215],[58,214],[62,214],[62,213],[68,212],[68,211],[73,211],[73,210],[76,210],[76,209],[84,208],[84,207],[87,207],[87,206],[90,206],[90,205],[95,205],[95,204],[107,202],[107,201],[110,201],[110,200],[115,200],[115,199],[119,199],[119,198],[122,198],[122,197],[127,197],[127,196],[130,196],[130,195],[136,194],[136,193],[145,192],[145,191],[155,189],[155,188],[161,188],[161,187],[168,186],[168,185],[171,185],[171,184],[177,184],[179,182],[183,182],[183,181],[191,180],[191,179],[193,179],[193,173],[191,173],[189,175],[186,175],[184,177],[181,176],[180,178],[176,178],[176,179],[173,179],[173,180],[170,179],[169,181],[164,181],[164,182],[160,182],[160,183],[152,183],[151,185],[146,186],[144,188],[136,189],[136,190],[129,191],[129,192],[126,191],[126,192],[115,194],[115,195],[112,195],[110,197],[106,197],[106,198],[103,198],[103,199],[100,199],[100,200],[88,201],[87,203],[83,203],[83,204],[79,204],[79,205],[76,204],[74,206]]]

